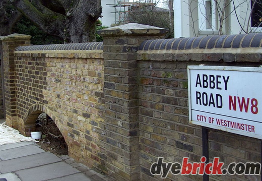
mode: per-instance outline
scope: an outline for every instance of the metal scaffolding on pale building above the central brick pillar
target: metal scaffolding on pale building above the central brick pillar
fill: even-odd
[[[128,23],[128,13],[132,8],[139,7],[141,5],[145,6],[155,6],[153,0],[115,0],[114,4],[106,4],[110,7],[114,7],[114,12],[111,12],[115,15],[115,24]]]

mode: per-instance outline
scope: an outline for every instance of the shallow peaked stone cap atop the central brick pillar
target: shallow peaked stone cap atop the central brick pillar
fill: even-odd
[[[169,30],[150,25],[142,25],[138,23],[128,23],[125,25],[105,28],[98,31],[98,34],[106,36],[130,36],[130,35],[165,35]]]

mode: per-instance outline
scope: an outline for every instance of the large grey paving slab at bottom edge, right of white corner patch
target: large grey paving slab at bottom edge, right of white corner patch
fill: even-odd
[[[15,173],[22,180],[43,181],[43,180],[54,179],[54,178],[63,177],[79,172],[80,171],[74,168],[73,166],[61,161],[48,165],[19,170],[16,171]]]

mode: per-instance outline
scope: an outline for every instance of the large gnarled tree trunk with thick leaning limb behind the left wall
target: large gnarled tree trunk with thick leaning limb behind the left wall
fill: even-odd
[[[21,13],[23,13],[45,33],[57,36],[63,39],[64,42],[90,42],[96,38],[96,20],[102,13],[101,0],[3,1],[5,5],[12,5],[15,8],[14,11],[8,12],[6,6],[0,4],[2,14],[9,14],[11,17],[3,21],[0,20],[0,22],[7,21],[10,22],[8,24],[11,24],[14,15],[20,15],[21,17]],[[6,17],[8,16],[6,15]]]

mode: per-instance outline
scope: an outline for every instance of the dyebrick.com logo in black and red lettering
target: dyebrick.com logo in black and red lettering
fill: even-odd
[[[223,175],[223,174],[249,174],[259,175],[261,170],[260,163],[230,163],[227,168],[222,168],[224,163],[219,162],[219,157],[214,157],[213,162],[206,163],[207,158],[201,157],[201,162],[188,162],[188,157],[183,157],[182,164],[175,162],[163,162],[163,157],[158,157],[157,162],[153,163],[150,168],[150,172],[153,175],[161,175],[161,178],[166,178],[169,172],[174,175]]]

